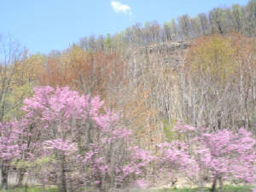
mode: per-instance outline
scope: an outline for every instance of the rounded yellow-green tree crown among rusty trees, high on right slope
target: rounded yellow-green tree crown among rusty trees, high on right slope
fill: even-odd
[[[192,69],[207,77],[227,79],[236,69],[235,49],[231,39],[220,35],[199,38],[189,49],[189,62]]]

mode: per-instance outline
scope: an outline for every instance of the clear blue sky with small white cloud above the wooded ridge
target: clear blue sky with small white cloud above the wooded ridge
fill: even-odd
[[[30,53],[66,49],[79,38],[106,35],[137,22],[160,24],[184,14],[248,0],[0,0],[0,33],[11,35]]]

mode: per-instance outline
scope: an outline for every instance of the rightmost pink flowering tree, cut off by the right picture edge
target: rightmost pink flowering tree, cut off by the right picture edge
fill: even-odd
[[[255,182],[255,138],[250,132],[241,128],[237,133],[228,130],[202,133],[195,141],[199,143],[194,151],[197,163],[212,180],[212,191],[217,181],[220,187],[224,180]]]

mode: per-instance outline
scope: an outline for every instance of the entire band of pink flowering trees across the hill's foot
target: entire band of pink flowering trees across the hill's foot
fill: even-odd
[[[23,166],[32,175],[41,170],[43,183],[56,182],[61,191],[91,185],[101,190],[131,183],[145,186],[143,177],[153,161],[161,171],[177,176],[200,179],[206,172],[212,182],[255,179],[255,140],[244,128],[207,132],[177,121],[173,130],[184,135],[184,142],[160,143],[152,155],[132,145],[131,131],[121,125],[117,113],[102,110],[97,96],[45,86],[35,88],[24,103],[26,114],[20,122],[0,126],[2,165],[8,170]]]

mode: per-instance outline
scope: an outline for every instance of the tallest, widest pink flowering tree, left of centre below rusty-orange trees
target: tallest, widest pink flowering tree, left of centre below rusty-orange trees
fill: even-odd
[[[89,185],[107,190],[143,174],[149,154],[128,149],[131,131],[119,123],[117,113],[102,110],[98,96],[46,86],[35,88],[24,103],[25,121],[40,136],[34,142],[44,143],[37,156],[54,155],[61,191]]]

